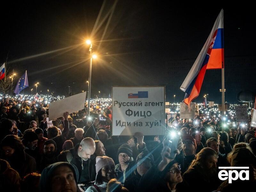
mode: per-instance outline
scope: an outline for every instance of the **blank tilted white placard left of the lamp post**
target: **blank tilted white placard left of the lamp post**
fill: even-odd
[[[82,92],[70,97],[56,100],[49,104],[49,120],[53,120],[63,116],[63,113],[68,111],[74,113],[84,109],[86,92]]]

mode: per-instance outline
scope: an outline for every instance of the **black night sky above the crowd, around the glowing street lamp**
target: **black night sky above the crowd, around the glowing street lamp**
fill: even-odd
[[[98,22],[103,1],[7,3],[0,13],[0,63],[8,55],[7,68],[18,73],[14,87],[27,70],[25,93],[35,90],[36,82],[39,93],[68,95],[68,86],[72,94],[87,91],[89,46],[84,41],[94,28],[93,50],[99,56],[92,66],[92,96],[100,91],[108,97],[112,85],[165,85],[166,101],[173,102],[175,94],[180,102],[180,85],[223,8],[226,101],[236,102],[245,89],[255,92],[253,6],[163,2],[107,1]],[[207,70],[195,101],[209,94],[208,100],[220,102],[220,88],[221,70]]]

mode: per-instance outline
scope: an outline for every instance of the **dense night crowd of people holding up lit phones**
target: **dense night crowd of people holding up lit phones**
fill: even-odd
[[[86,110],[65,112],[49,126],[49,103],[2,99],[3,191],[225,192],[256,183],[255,129],[232,114],[223,123],[215,114],[180,119],[177,113],[172,126],[166,119],[166,135],[112,136],[111,104],[102,100],[90,106],[90,117]],[[249,180],[218,178],[219,167],[241,166],[249,167]]]

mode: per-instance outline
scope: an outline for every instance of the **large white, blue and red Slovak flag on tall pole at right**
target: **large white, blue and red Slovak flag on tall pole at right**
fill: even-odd
[[[208,36],[203,49],[180,89],[185,92],[184,102],[189,105],[198,97],[203,84],[206,69],[224,68],[224,38],[223,38],[223,9],[218,15],[212,31]]]

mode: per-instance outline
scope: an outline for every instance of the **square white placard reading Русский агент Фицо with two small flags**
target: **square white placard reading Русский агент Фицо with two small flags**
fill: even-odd
[[[112,87],[112,135],[164,135],[164,99],[164,86]]]

